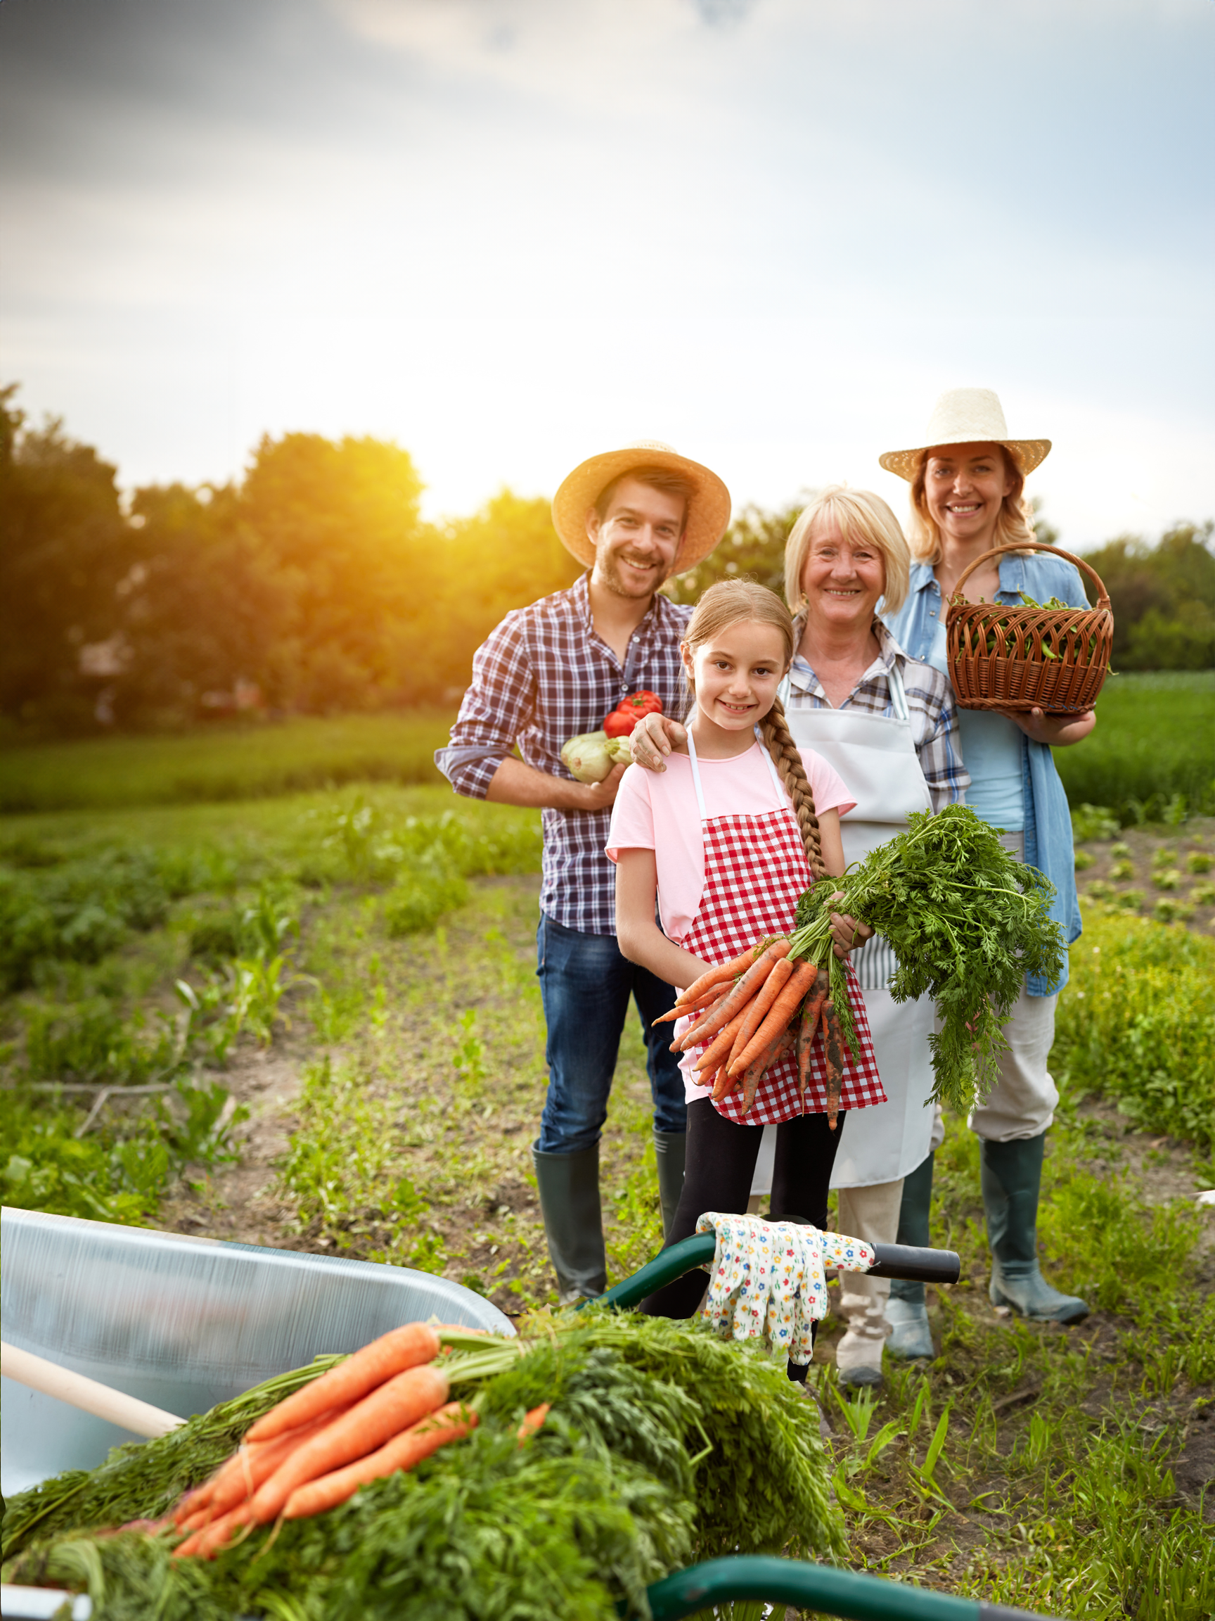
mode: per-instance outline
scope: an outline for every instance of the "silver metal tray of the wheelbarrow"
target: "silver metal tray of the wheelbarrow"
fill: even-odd
[[[5,1339],[188,1418],[402,1323],[515,1329],[471,1289],[407,1266],[3,1209]],[[2,1379],[0,1491],[96,1469],[126,1430]]]

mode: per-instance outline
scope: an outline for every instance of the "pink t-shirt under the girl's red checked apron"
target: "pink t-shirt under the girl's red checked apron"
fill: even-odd
[[[789,807],[789,796],[773,781],[758,742],[732,760],[701,760],[700,786],[705,814],[766,815]],[[802,765],[810,780],[815,810],[850,810],[847,788],[820,755],[802,751]],[[705,890],[705,841],[700,832],[700,807],[692,781],[692,759],[667,755],[666,772],[646,772],[630,765],[620,778],[608,830],[608,854],[612,861],[622,849],[653,849],[658,867],[658,916],[671,940],[682,940],[700,911]]]

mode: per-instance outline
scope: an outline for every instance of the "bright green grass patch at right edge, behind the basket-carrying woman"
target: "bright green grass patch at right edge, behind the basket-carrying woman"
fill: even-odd
[[[1124,827],[1215,810],[1215,671],[1108,676],[1097,729],[1055,763],[1072,806],[1110,806]]]

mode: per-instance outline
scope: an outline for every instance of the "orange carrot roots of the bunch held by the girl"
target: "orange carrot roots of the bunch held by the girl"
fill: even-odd
[[[810,1050],[821,1028],[828,1120],[834,1131],[844,1086],[844,1036],[826,966],[791,958],[791,945],[787,939],[760,942],[721,963],[680,992],[674,1008],[654,1023],[698,1015],[671,1042],[671,1050],[687,1052],[708,1042],[697,1062],[700,1084],[713,1088],[714,1102],[742,1088],[744,1114],[750,1112],[766,1070],[791,1050],[797,1052],[797,1091],[805,1099]]]

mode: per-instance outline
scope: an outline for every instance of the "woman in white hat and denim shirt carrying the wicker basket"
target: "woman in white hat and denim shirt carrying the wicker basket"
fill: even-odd
[[[920,446],[888,451],[881,465],[910,483],[907,538],[912,571],[907,600],[883,614],[912,658],[948,674],[944,616],[962,571],[990,551],[1034,538],[1025,475],[1050,452],[1050,439],[1011,439],[1004,413],[990,389],[953,389],[936,402]],[[969,577],[969,601],[1021,605],[1058,597],[1087,606],[1081,575],[1071,562],[1047,553],[1006,554]],[[1055,885],[1051,916],[1071,943],[1081,932],[1068,798],[1051,749],[1081,742],[1095,713],[1053,716],[959,710],[962,759],[970,773],[967,804],[1000,827],[1004,843]],[[1043,1279],[1037,1255],[1037,1209],[1047,1128],[1059,1094],[1047,1070],[1055,1039],[1055,1007],[1068,979],[1025,982],[1006,1026],[1009,1052],[987,1102],[970,1115],[980,1140],[983,1208],[991,1245],[991,1300],[1022,1316],[1077,1323],[1087,1305]],[[904,1182],[899,1243],[928,1242],[933,1156]],[[888,1316],[891,1352],[932,1355],[923,1284],[891,1285]]]

